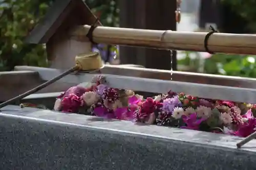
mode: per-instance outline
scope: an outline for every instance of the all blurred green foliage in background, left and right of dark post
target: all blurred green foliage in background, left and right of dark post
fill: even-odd
[[[118,0],[85,0],[104,26],[118,26]],[[256,1],[221,0],[237,15],[247,21],[241,25],[250,32],[256,31]],[[53,0],[0,0],[0,71],[12,70],[15,65],[48,66],[44,44],[25,44],[24,38],[43,17]],[[199,67],[197,59],[190,59],[191,52],[179,64]],[[230,76],[256,77],[255,63],[248,57],[217,54],[205,60],[204,72]],[[223,71],[224,70],[224,71]]]

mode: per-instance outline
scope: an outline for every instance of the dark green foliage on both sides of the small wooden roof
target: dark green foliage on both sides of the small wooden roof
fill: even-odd
[[[0,0],[0,71],[15,65],[47,66],[44,44],[25,44],[24,38],[43,17],[53,0]],[[118,23],[117,3],[113,0],[87,0],[86,3],[105,26]]]

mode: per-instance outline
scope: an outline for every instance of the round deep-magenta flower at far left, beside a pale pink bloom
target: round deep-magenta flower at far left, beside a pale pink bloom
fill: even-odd
[[[75,94],[69,94],[61,101],[63,112],[78,112],[79,107],[83,105],[83,100]]]

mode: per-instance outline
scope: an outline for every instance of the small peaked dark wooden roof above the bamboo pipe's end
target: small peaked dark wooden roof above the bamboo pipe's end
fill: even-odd
[[[81,25],[91,25],[96,20],[96,16],[82,0],[56,0],[46,16],[26,37],[25,42],[32,44],[48,42],[65,19],[73,12],[80,18]],[[101,25],[101,23],[98,22],[98,25]]]

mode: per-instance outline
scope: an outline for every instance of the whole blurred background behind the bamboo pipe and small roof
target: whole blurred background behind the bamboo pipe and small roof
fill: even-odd
[[[179,7],[176,0],[172,1],[86,0],[85,2],[100,18],[103,26],[208,32],[211,25],[223,33],[244,34],[256,31],[256,1],[183,0],[180,4],[180,23],[175,21],[175,10]],[[24,38],[45,15],[52,2],[53,0],[0,1],[0,71],[12,70],[15,65],[48,66],[45,45],[25,44]],[[145,6],[146,3],[151,6]],[[169,6],[164,3],[169,3]],[[146,12],[143,12],[142,7],[145,7]],[[156,18],[152,19],[152,16]],[[144,19],[141,21],[141,18]],[[105,62],[110,64],[129,63],[141,64],[148,68],[170,69],[170,62],[167,66],[161,66],[161,63],[155,66],[140,61],[142,60],[140,55],[150,55],[151,51],[134,49],[132,47],[119,49],[119,46],[104,44],[93,48],[94,51],[101,53]],[[166,54],[158,51],[154,55],[164,55],[165,61],[170,61],[170,56]],[[137,59],[127,60],[127,56],[137,56]],[[148,58],[150,60],[150,56]],[[174,69],[180,71],[256,77],[255,56],[178,51],[174,64]]]

